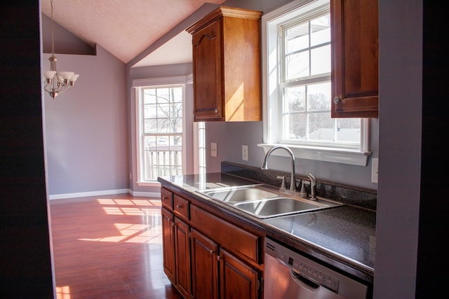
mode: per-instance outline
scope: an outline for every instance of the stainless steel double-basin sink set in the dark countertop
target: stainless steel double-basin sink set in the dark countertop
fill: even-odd
[[[323,198],[305,199],[286,195],[266,184],[224,187],[197,191],[202,195],[230,204],[257,218],[269,218],[340,207],[344,204]]]

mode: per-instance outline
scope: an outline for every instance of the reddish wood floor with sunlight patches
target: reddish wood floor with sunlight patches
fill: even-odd
[[[51,200],[50,211],[58,299],[182,298],[163,273],[159,198]]]

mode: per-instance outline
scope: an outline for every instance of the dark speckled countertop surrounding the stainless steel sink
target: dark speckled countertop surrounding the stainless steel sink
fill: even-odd
[[[375,211],[346,204],[321,211],[257,218],[231,205],[213,200],[196,191],[225,186],[242,186],[260,183],[225,173],[192,174],[159,177],[168,184],[215,209],[232,214],[262,230],[292,249],[302,251],[328,265],[373,283],[375,260]],[[266,183],[266,182],[263,182]]]

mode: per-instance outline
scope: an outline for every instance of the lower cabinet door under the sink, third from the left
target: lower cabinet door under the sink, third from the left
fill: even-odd
[[[217,299],[218,291],[218,244],[192,228],[192,298]]]

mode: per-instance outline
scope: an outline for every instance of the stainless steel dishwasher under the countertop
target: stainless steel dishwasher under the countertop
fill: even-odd
[[[265,238],[264,299],[366,299],[368,286]]]

